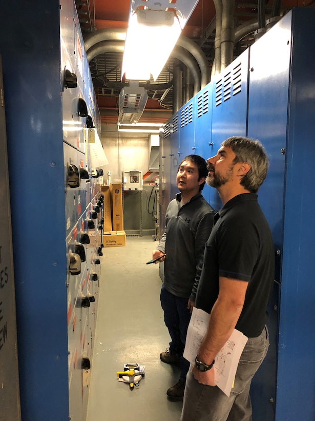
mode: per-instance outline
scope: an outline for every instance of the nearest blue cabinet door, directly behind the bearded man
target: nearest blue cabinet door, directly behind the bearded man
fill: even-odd
[[[268,154],[270,167],[258,192],[259,203],[271,228],[276,251],[275,289],[280,290],[281,256],[283,252],[283,208],[285,181],[285,147],[291,28],[281,20],[250,48],[248,137],[259,139]],[[280,296],[279,292],[278,295]],[[278,355],[277,311],[269,312],[270,348],[262,367],[251,385],[255,419],[275,418]],[[274,315],[275,317],[271,317]],[[263,408],[263,411],[261,411]]]

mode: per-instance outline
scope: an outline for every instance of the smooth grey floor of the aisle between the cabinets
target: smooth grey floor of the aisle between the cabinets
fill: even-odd
[[[127,236],[103,248],[87,421],[178,421],[181,402],[166,398],[179,369],[160,361],[169,345],[160,306],[159,265],[145,263],[157,242]],[[117,379],[124,363],[145,366],[139,387]]]

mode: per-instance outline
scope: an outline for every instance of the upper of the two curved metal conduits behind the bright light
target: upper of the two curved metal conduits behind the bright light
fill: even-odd
[[[85,39],[84,45],[87,51],[87,56],[88,56],[88,61],[91,61],[92,59],[94,59],[94,57],[100,53],[97,53],[94,55],[94,46],[96,44],[99,44],[100,42],[104,42],[106,40],[108,41],[125,41],[126,38],[126,30],[125,29],[100,29],[99,31],[95,31],[93,33],[91,33],[90,35],[88,35]],[[207,61],[207,58],[205,56],[205,54],[203,53],[203,51],[201,50],[201,48],[199,48],[197,46],[196,43],[194,43],[193,41],[191,41],[190,39],[188,39],[185,36],[180,36],[179,40],[177,41],[176,46],[180,46],[183,47],[184,49],[188,50],[188,53],[191,53],[194,58],[196,59],[200,71],[201,71],[201,82],[197,83],[197,80],[200,78],[200,76],[197,78],[197,74],[199,73],[199,70],[196,71],[196,66],[194,66],[193,68],[193,64],[192,64],[192,60],[188,59],[188,55],[185,54],[185,59],[186,61],[188,61],[190,64],[186,64],[185,60],[183,60],[183,54],[182,58],[179,58],[177,56],[175,56],[177,59],[179,59],[181,62],[183,62],[187,67],[190,68],[190,70],[192,71],[193,74],[193,78],[195,80],[195,87],[196,85],[199,86],[198,91],[200,90],[200,86],[204,87],[205,85],[208,84],[209,80],[210,80],[210,70],[209,70],[209,63]],[[175,46],[175,48],[176,48]],[[92,50],[93,48],[93,50]],[[175,50],[174,48],[174,50]],[[90,51],[93,51],[93,54],[91,53],[90,55]],[[174,56],[174,50],[171,53],[172,56]],[[113,50],[110,50],[113,51]],[[123,50],[122,50],[123,51]],[[105,52],[105,51],[102,51]],[[93,56],[92,56],[93,55]],[[91,56],[91,58],[90,58]],[[198,92],[197,91],[197,92]]]

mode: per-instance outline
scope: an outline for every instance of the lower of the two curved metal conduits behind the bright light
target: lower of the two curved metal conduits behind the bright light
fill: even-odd
[[[105,52],[123,52],[124,41],[101,41],[87,51],[87,59],[90,62],[97,55]],[[194,79],[194,94],[200,90],[200,72],[193,56],[188,51],[175,46],[171,53],[172,57],[180,60],[185,66],[187,66]],[[154,86],[154,85],[153,85]],[[154,88],[153,88],[154,89]]]

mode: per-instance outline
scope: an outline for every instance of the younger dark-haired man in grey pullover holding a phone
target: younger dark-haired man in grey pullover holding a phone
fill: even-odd
[[[181,368],[179,381],[166,392],[173,401],[182,400],[184,395],[189,362],[183,351],[215,213],[201,195],[207,173],[206,162],[198,155],[189,155],[180,163],[176,176],[180,193],[167,207],[165,232],[152,254],[153,259],[161,256],[159,261],[165,260],[160,300],[171,336],[170,347],[160,359]]]

